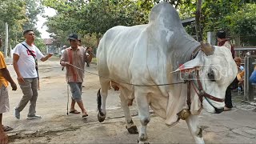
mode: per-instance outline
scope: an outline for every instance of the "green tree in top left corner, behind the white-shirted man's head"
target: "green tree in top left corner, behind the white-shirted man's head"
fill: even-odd
[[[41,0],[0,0],[0,31],[5,38],[5,22],[9,26],[9,45],[15,46],[24,40],[22,32],[32,29],[40,37],[35,28],[37,15],[42,13]]]

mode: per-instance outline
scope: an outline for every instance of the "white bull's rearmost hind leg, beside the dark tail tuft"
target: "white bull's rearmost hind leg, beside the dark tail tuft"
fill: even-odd
[[[98,122],[103,122],[106,118],[106,97],[110,86],[110,80],[100,78],[101,89],[98,90],[97,103],[98,103]]]

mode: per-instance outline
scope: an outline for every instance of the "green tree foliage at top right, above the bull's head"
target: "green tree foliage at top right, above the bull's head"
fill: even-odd
[[[197,1],[191,0],[190,2],[190,4],[181,3],[179,5],[178,10],[181,18],[195,17]],[[249,10],[246,10],[247,8],[245,7],[246,3],[248,2],[250,5],[255,3],[255,1],[250,0],[204,0],[202,2],[202,14],[200,19],[204,38],[206,38],[206,32],[217,31],[220,29],[226,30],[230,34],[238,34],[238,31],[235,31],[236,28],[234,28],[234,25],[240,27],[241,24],[239,24],[237,21],[240,21],[239,19],[242,18],[245,13],[249,12]],[[240,10],[242,10],[243,14],[239,15],[237,12]],[[186,27],[186,30],[192,34],[194,33],[194,26],[188,26]]]

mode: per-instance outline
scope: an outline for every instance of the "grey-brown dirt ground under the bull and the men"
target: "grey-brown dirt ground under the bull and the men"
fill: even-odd
[[[12,66],[10,74],[16,80]],[[13,108],[18,105],[22,91],[11,91],[10,112],[4,114],[3,124],[12,126],[8,132],[10,143],[137,143],[138,134],[128,134],[118,93],[110,90],[107,99],[107,116],[102,123],[97,118],[96,94],[99,82],[96,65],[91,64],[86,73],[82,100],[89,117],[82,119],[81,114],[66,114],[67,85],[65,70],[61,70],[58,58],[39,63],[41,90],[38,91],[37,114],[42,119],[27,120],[29,104],[21,112],[21,119],[15,119]],[[206,143],[256,143],[255,106],[241,102],[242,96],[235,96],[234,109],[222,114],[208,114],[202,111],[200,125]],[[79,110],[78,106],[76,109]],[[130,107],[134,123],[139,127],[136,103]],[[81,110],[79,110],[81,111]],[[162,118],[151,114],[148,125],[150,143],[194,143],[186,122],[167,127]]]

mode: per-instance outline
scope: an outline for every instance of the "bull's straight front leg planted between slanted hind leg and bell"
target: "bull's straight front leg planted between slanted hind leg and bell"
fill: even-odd
[[[146,125],[150,122],[149,102],[146,94],[136,93],[135,98],[138,106],[138,118],[141,122],[141,128],[138,135],[138,143],[149,143],[147,141]]]

